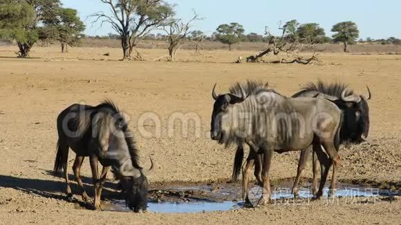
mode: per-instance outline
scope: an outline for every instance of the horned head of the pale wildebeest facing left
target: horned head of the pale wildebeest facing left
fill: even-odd
[[[227,139],[227,129],[230,127],[230,121],[226,118],[230,108],[232,108],[234,104],[246,99],[245,91],[241,86],[239,86],[239,88],[241,90],[240,96],[232,93],[216,95],[216,84],[214,84],[212,97],[215,101],[210,124],[210,137],[219,143],[223,143],[224,140]]]

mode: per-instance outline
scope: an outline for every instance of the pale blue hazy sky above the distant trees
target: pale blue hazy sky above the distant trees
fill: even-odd
[[[245,32],[262,34],[265,26],[276,30],[279,21],[297,19],[300,23],[319,23],[331,35],[333,24],[340,21],[354,21],[360,28],[360,37],[373,39],[401,38],[401,1],[269,1],[269,0],[167,0],[175,3],[177,17],[184,20],[193,16],[192,9],[203,21],[195,24],[196,30],[212,34],[221,23],[241,23]],[[93,12],[108,8],[100,0],[62,0],[64,7],[75,8],[82,20]],[[100,24],[91,26],[91,19],[86,19],[87,35],[106,35],[112,32],[109,26],[100,28]]]

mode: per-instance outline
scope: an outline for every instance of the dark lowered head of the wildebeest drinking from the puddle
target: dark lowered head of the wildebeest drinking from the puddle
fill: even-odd
[[[120,177],[120,182],[125,191],[127,206],[136,213],[147,210],[148,181],[146,175],[151,170],[153,170],[152,160],[149,170],[134,169],[125,171]]]

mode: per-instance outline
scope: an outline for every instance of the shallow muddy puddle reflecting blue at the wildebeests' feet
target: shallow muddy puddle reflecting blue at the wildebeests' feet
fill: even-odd
[[[272,188],[272,201],[276,204],[306,203],[313,198],[310,188],[299,190],[299,199],[294,199],[289,188],[290,183],[280,184]],[[310,184],[308,184],[310,186]],[[398,190],[385,190],[368,188],[351,184],[339,184],[335,197],[366,197],[374,199],[380,196],[400,195]],[[253,205],[256,205],[261,197],[261,188],[250,188],[249,197]],[[209,211],[229,211],[243,208],[241,200],[242,189],[240,184],[183,184],[174,186],[162,186],[160,189],[149,192],[150,202],[148,211],[153,213],[200,213]],[[328,197],[328,188],[324,189],[323,198]],[[125,206],[124,200],[111,200],[106,204],[110,211],[132,212]]]

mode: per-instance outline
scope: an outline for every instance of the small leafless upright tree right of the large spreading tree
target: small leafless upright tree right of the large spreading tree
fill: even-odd
[[[201,19],[194,12],[194,17],[187,23],[183,23],[181,19],[174,19],[163,28],[167,33],[167,43],[169,44],[167,48],[169,50],[168,61],[176,60],[176,53],[188,41],[188,35],[191,33],[191,24],[196,20]]]

